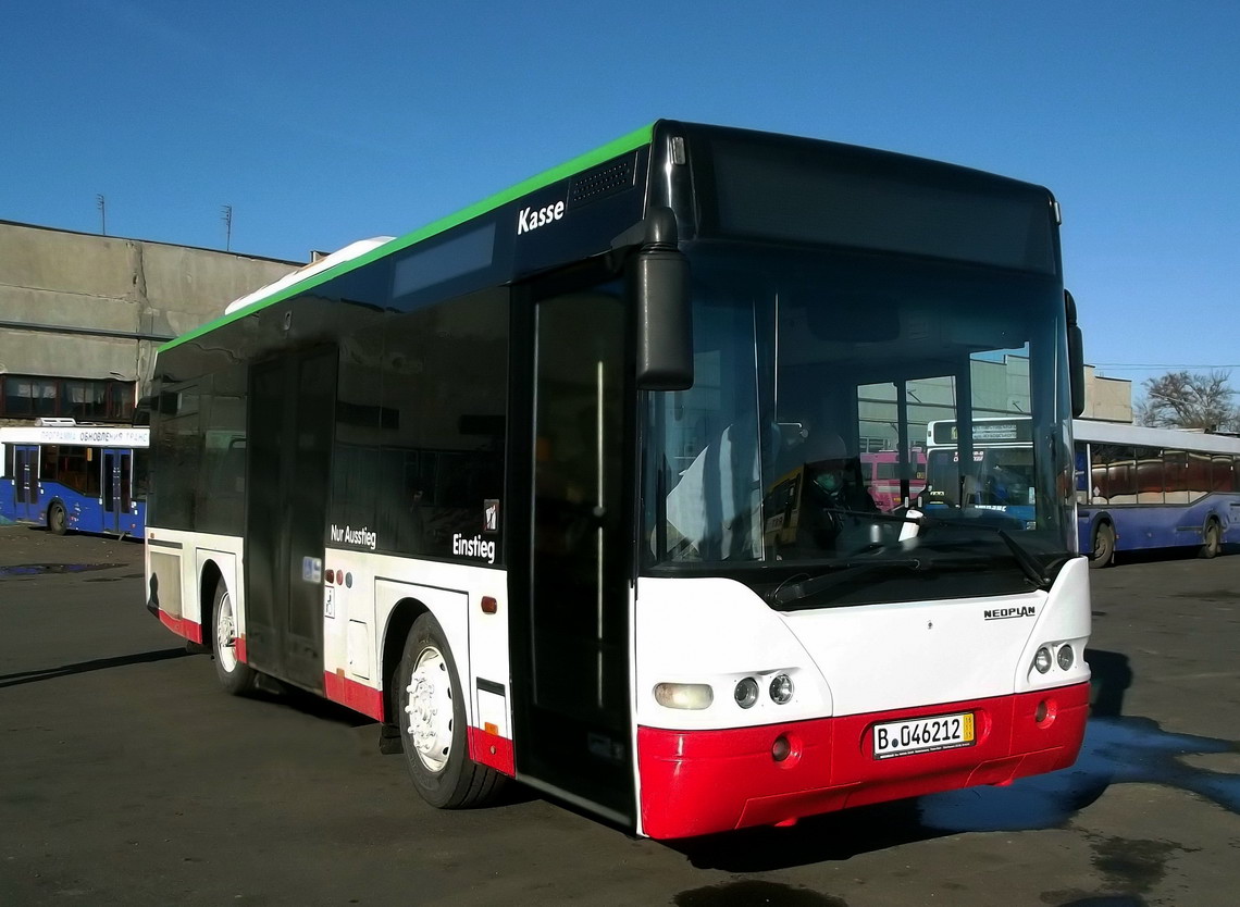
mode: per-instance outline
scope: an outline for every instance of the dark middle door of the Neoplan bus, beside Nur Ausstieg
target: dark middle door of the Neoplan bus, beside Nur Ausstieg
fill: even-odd
[[[322,693],[322,555],[336,351],[250,372],[246,482],[246,655]]]

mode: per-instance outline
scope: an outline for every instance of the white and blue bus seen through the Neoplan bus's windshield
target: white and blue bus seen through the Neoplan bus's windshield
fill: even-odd
[[[971,450],[965,454],[955,419],[926,425],[926,512],[947,507],[975,518],[1002,514],[1016,524],[1034,525],[1039,483],[1032,420],[1024,415],[982,416],[971,426]],[[960,468],[962,454],[971,468]]]

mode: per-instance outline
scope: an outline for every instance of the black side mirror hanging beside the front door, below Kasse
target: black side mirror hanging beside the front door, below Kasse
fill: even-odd
[[[676,248],[676,219],[666,208],[647,218],[646,243],[636,255],[632,286],[637,388],[688,390],[693,387],[689,263]]]

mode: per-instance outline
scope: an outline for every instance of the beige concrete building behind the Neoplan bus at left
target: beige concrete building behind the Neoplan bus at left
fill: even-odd
[[[0,221],[0,425],[130,423],[161,343],[300,266]]]

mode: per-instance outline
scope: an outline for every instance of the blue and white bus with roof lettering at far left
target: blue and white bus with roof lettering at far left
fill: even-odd
[[[150,429],[40,421],[0,429],[0,517],[57,535],[143,538]]]

